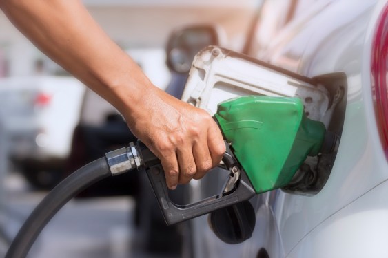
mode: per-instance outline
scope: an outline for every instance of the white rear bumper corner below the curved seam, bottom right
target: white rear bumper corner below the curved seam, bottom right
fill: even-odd
[[[287,257],[387,257],[387,194],[387,182],[371,189],[325,219]]]

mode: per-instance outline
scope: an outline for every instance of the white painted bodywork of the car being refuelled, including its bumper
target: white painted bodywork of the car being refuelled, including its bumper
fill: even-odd
[[[314,196],[282,190],[256,196],[256,228],[243,244],[214,239],[210,229],[202,230],[205,218],[196,219],[193,223],[201,227],[196,244],[205,250],[197,250],[197,257],[256,257],[261,248],[269,257],[387,257],[381,239],[388,232],[388,164],[376,127],[370,72],[372,38],[387,1],[301,3],[304,8],[298,6],[289,23],[249,54],[310,78],[346,74],[345,122],[329,180]]]

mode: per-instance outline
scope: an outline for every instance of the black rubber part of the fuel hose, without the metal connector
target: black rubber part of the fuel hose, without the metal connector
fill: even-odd
[[[25,257],[41,230],[63,205],[80,191],[103,178],[108,178],[110,175],[112,173],[110,173],[106,158],[100,158],[65,178],[32,211],[30,217],[21,226],[19,233],[12,241],[6,258]]]

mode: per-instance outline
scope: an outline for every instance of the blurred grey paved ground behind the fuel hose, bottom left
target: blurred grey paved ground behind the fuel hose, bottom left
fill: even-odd
[[[28,191],[17,174],[8,176],[6,185],[0,224],[8,235],[14,235],[46,193]],[[43,229],[30,258],[163,257],[139,250],[139,233],[132,226],[133,207],[130,197],[72,200]]]

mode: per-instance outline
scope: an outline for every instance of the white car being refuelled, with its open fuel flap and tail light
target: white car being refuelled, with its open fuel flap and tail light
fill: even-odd
[[[303,179],[250,200],[256,226],[240,244],[218,239],[207,216],[192,219],[191,255],[388,257],[387,0],[264,1],[248,39],[245,54],[265,63],[244,56],[227,63],[223,50],[219,63],[194,61],[183,100],[211,113],[220,101],[245,94],[298,96],[314,108],[318,102],[298,94],[310,83],[329,99],[315,119],[340,142],[334,153],[313,160]],[[251,63],[258,69],[248,69]],[[255,74],[267,64],[283,75]],[[282,79],[284,87],[277,87]],[[217,184],[193,182],[192,201]],[[230,229],[224,241],[243,235],[241,224],[218,226]]]

